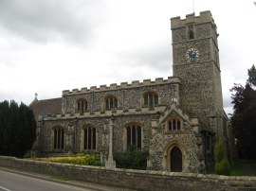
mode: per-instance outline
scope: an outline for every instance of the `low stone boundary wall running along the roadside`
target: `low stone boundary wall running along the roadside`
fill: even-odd
[[[256,177],[246,176],[228,177],[119,168],[111,170],[99,166],[64,165],[5,156],[0,156],[0,166],[137,190],[256,190]]]

